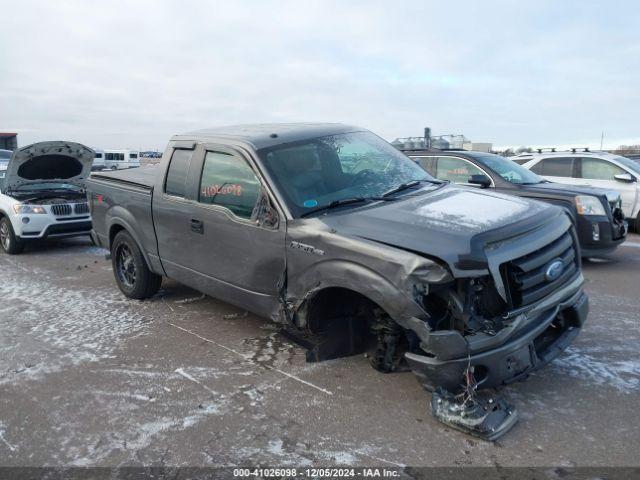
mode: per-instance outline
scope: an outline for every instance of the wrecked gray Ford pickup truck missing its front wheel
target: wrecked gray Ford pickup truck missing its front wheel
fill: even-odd
[[[361,128],[177,135],[160,165],[93,173],[87,191],[126,296],[170,277],[280,323],[310,361],[369,352],[431,391],[495,387],[587,316],[563,210],[436,180]]]

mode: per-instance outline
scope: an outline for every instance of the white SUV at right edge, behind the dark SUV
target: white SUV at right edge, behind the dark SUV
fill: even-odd
[[[518,163],[553,182],[619,191],[622,211],[640,232],[640,164],[620,155],[597,151],[528,153]]]

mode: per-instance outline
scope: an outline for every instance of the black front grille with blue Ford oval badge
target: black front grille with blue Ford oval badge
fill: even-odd
[[[550,265],[562,263],[555,279],[547,275]],[[501,266],[501,272],[511,307],[530,305],[553,293],[578,272],[579,258],[570,231],[549,245],[511,260]]]

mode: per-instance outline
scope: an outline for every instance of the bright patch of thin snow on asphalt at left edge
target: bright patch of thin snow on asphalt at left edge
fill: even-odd
[[[25,276],[7,267],[11,280],[0,283],[0,384],[109,358],[124,339],[145,332],[149,320],[140,303],[118,291],[57,286],[46,272]]]

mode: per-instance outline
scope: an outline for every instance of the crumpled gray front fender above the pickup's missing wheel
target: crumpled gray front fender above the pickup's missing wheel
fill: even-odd
[[[304,230],[290,230],[288,242],[308,243],[316,253],[288,248],[285,298],[290,310],[296,311],[325,288],[346,288],[375,302],[397,323],[425,339],[428,313],[416,300],[428,293],[430,284],[453,281],[446,267],[412,252],[336,232],[318,235],[316,229],[314,238],[296,235]]]

